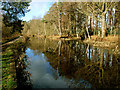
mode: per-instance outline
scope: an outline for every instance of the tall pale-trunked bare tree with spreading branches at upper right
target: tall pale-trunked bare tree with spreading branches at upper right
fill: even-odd
[[[93,7],[94,5],[94,7]],[[105,25],[105,16],[110,8],[113,8],[116,5],[116,2],[80,2],[78,6],[78,11],[86,14],[87,16],[91,16],[94,11],[94,15],[99,15],[100,19],[96,18],[99,22],[101,22],[101,37],[105,37],[106,33],[106,25]],[[87,10],[85,10],[87,7]],[[95,19],[95,16],[94,16]],[[91,24],[90,24],[91,25]]]

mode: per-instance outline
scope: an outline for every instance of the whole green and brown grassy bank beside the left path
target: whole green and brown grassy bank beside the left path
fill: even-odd
[[[17,69],[16,65],[19,56],[25,50],[25,43],[22,39],[12,43],[11,45],[3,46],[2,52],[2,88],[17,87]]]

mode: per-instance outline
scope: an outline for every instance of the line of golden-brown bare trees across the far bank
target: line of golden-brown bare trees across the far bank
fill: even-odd
[[[36,35],[70,34],[89,39],[91,35],[115,36],[120,28],[119,6],[120,2],[55,2],[44,18],[26,22],[24,30]]]

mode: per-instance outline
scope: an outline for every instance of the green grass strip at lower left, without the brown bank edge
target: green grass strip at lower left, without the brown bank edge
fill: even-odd
[[[7,47],[5,52],[2,54],[2,88],[15,88],[16,81],[14,77],[10,74],[10,63],[12,60],[12,56],[14,55],[11,47]],[[16,73],[13,73],[16,76]]]

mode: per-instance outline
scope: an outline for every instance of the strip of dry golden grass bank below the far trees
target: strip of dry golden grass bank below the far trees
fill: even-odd
[[[36,37],[36,38],[48,38],[52,40],[82,40],[82,37],[76,37],[76,36],[69,36],[68,35],[62,35],[62,36],[44,36],[44,35],[34,35],[34,36],[28,36],[28,37]],[[82,40],[84,43],[93,45],[95,47],[103,47],[103,48],[116,48],[118,46],[118,35],[116,36],[107,36],[105,38],[101,38],[99,36],[93,35],[91,36],[90,40],[84,39]]]

